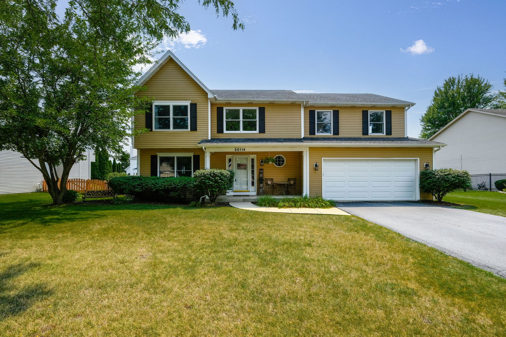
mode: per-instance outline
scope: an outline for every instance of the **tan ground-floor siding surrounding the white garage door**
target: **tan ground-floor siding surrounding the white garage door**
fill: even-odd
[[[425,163],[429,163],[433,167],[432,148],[310,148],[310,196],[322,195],[322,158],[419,158],[420,171],[425,170]],[[313,167],[315,162],[320,166],[318,171]],[[432,200],[432,195],[420,192],[420,199]]]

